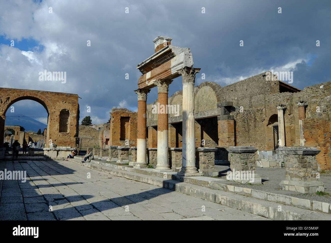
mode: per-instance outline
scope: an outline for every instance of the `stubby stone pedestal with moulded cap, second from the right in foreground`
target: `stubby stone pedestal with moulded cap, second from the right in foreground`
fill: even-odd
[[[230,146],[228,149],[231,172],[227,173],[226,179],[240,183],[261,184],[261,177],[255,173],[254,146]]]

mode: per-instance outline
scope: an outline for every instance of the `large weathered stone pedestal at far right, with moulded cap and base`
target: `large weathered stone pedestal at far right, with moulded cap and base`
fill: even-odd
[[[316,154],[321,150],[315,147],[281,147],[284,154],[285,180],[280,182],[281,190],[298,191],[300,193],[316,193],[324,191],[323,182],[316,178]]]

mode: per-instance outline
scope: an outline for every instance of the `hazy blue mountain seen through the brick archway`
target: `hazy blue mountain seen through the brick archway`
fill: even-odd
[[[6,116],[5,126],[17,125],[24,127],[25,131],[32,131],[32,132],[38,132],[39,129],[41,132],[43,132],[44,128],[47,128],[46,124],[34,120],[31,117],[20,114],[15,114],[15,115],[16,116]]]

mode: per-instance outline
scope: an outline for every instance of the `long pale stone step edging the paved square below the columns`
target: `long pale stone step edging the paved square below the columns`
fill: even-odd
[[[233,193],[234,191],[230,191],[230,190],[225,191],[212,187],[193,184],[190,182],[184,182],[184,181],[181,182],[178,180],[172,180],[171,177],[173,175],[170,173],[167,173],[166,178],[164,178],[163,177],[164,173],[156,172],[159,173],[160,176],[152,176],[138,172],[132,172],[131,170],[133,169],[132,167],[119,166],[119,165],[115,165],[116,168],[118,168],[116,169],[114,168],[115,167],[114,164],[111,164],[109,162],[106,164],[109,164],[111,166],[102,165],[103,162],[101,162],[100,164],[87,163],[87,162],[81,163],[78,159],[69,159],[69,161],[83,165],[91,169],[103,171],[105,173],[109,173],[118,177],[124,177],[129,180],[144,182],[144,183],[164,187],[170,190],[178,191],[210,202],[219,203],[230,208],[239,209],[244,212],[248,212],[255,215],[260,215],[271,220],[331,220],[331,216],[325,213],[299,208],[296,206],[284,205],[284,203],[281,203],[281,205],[279,205],[280,203],[265,200],[264,198],[260,199],[254,196],[253,197],[247,196],[240,193],[237,194],[237,193]],[[97,162],[97,161],[93,161],[93,162]],[[126,167],[126,168],[121,169],[121,167]],[[146,173],[149,173],[148,170],[146,169],[143,170],[146,171]],[[215,178],[209,178],[209,179],[204,178],[204,179],[205,180],[207,179],[206,181],[209,182],[208,184],[210,184],[211,186],[213,186],[213,183],[216,183],[216,181],[211,180]],[[220,179],[215,179],[215,180],[220,181]],[[251,194],[252,191],[255,190],[251,189]],[[253,195],[255,195],[254,192]],[[279,210],[279,206],[281,206],[281,210]]]

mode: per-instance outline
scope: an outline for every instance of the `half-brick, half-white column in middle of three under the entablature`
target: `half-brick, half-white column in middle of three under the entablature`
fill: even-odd
[[[158,164],[156,170],[170,170],[168,152],[168,89],[172,80],[160,79],[158,86]]]

